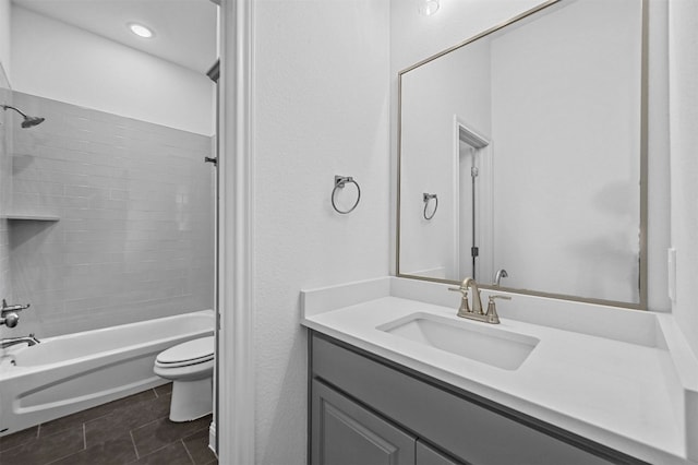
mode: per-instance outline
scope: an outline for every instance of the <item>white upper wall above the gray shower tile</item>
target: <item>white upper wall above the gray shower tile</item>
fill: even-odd
[[[205,74],[16,5],[11,31],[15,91],[214,133],[214,84]]]

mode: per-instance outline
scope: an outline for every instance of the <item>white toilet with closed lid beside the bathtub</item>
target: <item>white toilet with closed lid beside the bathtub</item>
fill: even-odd
[[[171,421],[191,421],[213,412],[214,336],[161,351],[153,371],[172,381]]]

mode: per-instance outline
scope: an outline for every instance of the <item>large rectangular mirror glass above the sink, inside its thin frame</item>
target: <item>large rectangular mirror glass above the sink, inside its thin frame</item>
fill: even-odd
[[[398,276],[647,307],[645,21],[547,2],[398,74]]]

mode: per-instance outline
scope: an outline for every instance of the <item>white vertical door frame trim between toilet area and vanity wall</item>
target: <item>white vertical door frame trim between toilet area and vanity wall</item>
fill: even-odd
[[[218,461],[255,463],[253,0],[221,1]]]

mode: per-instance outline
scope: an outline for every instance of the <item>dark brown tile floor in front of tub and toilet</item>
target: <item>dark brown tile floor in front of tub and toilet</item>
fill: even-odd
[[[0,438],[0,465],[208,465],[208,415],[168,419],[171,384]]]

